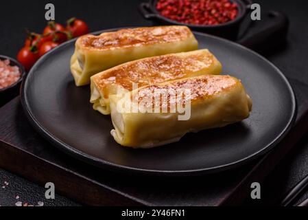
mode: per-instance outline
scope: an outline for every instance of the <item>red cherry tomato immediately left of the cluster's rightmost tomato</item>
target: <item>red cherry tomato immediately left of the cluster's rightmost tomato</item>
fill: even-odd
[[[47,41],[54,41],[56,43],[63,43],[67,41],[67,34],[65,28],[60,23],[51,21],[44,29],[43,35]]]

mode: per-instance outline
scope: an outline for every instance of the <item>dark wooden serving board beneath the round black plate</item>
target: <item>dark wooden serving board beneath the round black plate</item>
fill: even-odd
[[[296,125],[273,151],[236,170],[202,177],[126,176],[58,151],[30,126],[19,98],[0,109],[0,166],[85,205],[220,206],[240,204],[308,131],[308,86],[290,80],[298,99]]]

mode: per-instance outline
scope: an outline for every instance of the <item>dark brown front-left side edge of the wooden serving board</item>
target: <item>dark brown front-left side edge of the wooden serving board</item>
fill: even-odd
[[[0,141],[0,167],[12,173],[18,173],[40,186],[45,186],[52,179],[59,195],[69,197],[86,206],[147,205],[143,201],[51,164],[3,141]]]

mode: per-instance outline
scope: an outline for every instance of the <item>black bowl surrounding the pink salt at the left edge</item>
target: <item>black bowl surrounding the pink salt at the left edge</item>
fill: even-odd
[[[0,89],[0,107],[2,107],[3,104],[7,103],[8,101],[12,100],[14,97],[19,95],[21,82],[23,81],[23,78],[25,77],[25,68],[23,67],[23,65],[21,65],[21,63],[19,63],[15,59],[10,58],[8,56],[0,55],[1,61],[4,61],[6,59],[10,61],[10,65],[19,67],[19,71],[21,72],[21,78],[19,78],[19,80],[17,80],[16,83],[10,85],[9,87]]]

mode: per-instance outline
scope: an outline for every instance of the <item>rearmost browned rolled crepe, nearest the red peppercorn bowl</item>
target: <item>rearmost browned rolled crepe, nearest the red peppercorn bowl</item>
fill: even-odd
[[[198,41],[185,26],[123,29],[99,36],[81,36],[75,43],[71,73],[77,86],[90,77],[121,63],[140,58],[188,52],[198,49]]]

